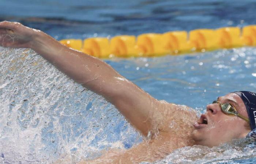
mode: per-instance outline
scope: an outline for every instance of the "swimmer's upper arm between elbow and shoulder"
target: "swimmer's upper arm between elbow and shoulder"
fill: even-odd
[[[127,79],[118,79],[110,102],[140,132],[147,136],[154,129],[159,101]]]

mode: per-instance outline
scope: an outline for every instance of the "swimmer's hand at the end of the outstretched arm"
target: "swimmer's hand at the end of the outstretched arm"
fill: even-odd
[[[0,46],[11,48],[31,48],[39,30],[23,26],[18,22],[0,22]]]

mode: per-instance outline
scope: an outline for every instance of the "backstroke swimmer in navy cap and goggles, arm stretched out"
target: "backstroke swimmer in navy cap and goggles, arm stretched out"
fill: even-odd
[[[255,128],[256,95],[251,92],[221,96],[198,118],[189,107],[151,97],[102,60],[68,48],[42,31],[0,22],[0,46],[33,49],[69,78],[116,106],[146,138],[130,149],[110,150],[80,163],[154,162],[185,146],[213,147],[244,138]]]

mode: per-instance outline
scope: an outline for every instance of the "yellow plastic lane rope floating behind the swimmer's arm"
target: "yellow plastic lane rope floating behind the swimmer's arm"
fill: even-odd
[[[256,46],[256,25],[148,33],[113,38],[63,39],[60,43],[97,58],[176,55],[194,51]]]

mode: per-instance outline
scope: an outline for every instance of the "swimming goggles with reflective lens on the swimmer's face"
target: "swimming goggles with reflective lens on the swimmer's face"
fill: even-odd
[[[212,104],[219,104],[221,106],[221,110],[223,113],[231,115],[231,116],[237,116],[242,118],[243,120],[245,120],[246,122],[250,123],[249,119],[242,116],[241,114],[239,114],[236,110],[236,108],[234,108],[231,104],[229,103],[225,103],[225,104],[221,104],[219,101],[213,101]]]

